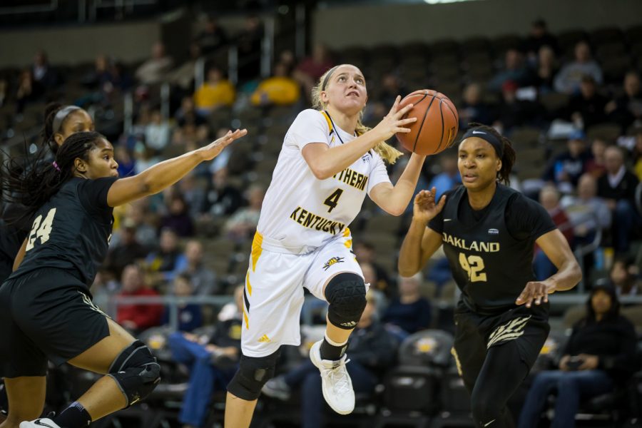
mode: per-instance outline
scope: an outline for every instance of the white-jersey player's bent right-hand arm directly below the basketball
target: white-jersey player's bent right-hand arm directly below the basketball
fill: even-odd
[[[419,174],[422,172],[422,165],[424,165],[425,159],[426,156],[412,153],[406,169],[399,177],[397,184],[394,186],[390,183],[375,185],[370,191],[370,198],[386,213],[402,215],[410,202],[410,198],[412,198],[414,188],[417,187],[417,180],[419,180]]]

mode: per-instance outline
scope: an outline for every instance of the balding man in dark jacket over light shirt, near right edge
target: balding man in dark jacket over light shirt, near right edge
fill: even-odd
[[[604,157],[606,174],[598,178],[598,196],[606,200],[613,213],[613,248],[616,253],[626,253],[636,226],[642,222],[635,204],[639,180],[624,165],[621,148],[606,148]]]

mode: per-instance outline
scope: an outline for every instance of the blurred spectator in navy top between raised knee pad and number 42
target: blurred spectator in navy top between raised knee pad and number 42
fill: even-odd
[[[422,272],[412,277],[399,276],[399,297],[389,303],[384,312],[383,322],[396,325],[410,335],[430,327],[432,308],[430,302],[419,292],[423,280]]]

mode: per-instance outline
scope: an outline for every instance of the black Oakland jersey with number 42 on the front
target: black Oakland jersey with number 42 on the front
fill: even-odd
[[[518,198],[520,212],[511,209]],[[462,290],[462,300],[480,314],[515,307],[526,282],[535,280],[535,240],[555,225],[541,205],[501,184],[489,205],[477,213],[479,218],[464,215],[466,209],[473,213],[462,185],[449,193],[444,209],[430,223],[430,228],[442,234],[444,253]],[[507,213],[519,218],[507,219]],[[516,223],[520,226],[514,226]]]

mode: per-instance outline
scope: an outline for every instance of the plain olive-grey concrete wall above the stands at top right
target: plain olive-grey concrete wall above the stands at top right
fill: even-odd
[[[346,46],[402,44],[469,36],[527,34],[544,18],[551,31],[642,23],[640,0],[479,0],[452,4],[337,6],[318,9],[313,40]]]

